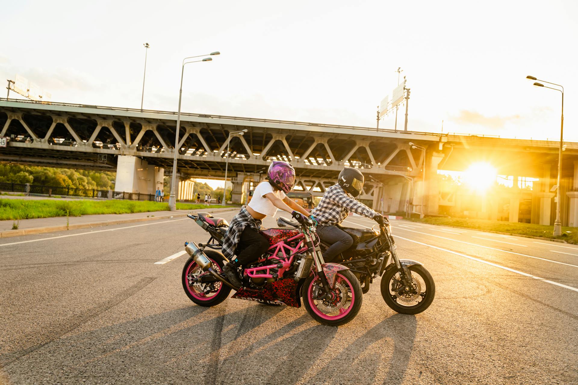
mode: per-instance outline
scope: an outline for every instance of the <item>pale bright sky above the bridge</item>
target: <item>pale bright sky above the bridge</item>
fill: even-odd
[[[18,1],[2,4],[0,79],[54,102],[375,126],[411,89],[408,129],[578,140],[576,1]],[[8,31],[8,33],[6,33]],[[405,106],[399,111],[403,127]],[[394,116],[380,128],[394,128]]]

